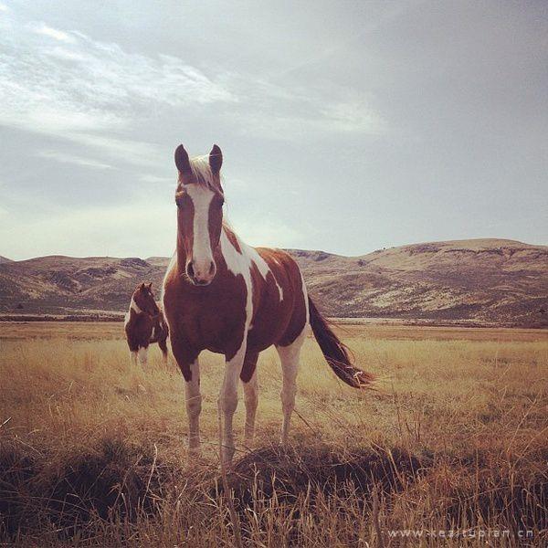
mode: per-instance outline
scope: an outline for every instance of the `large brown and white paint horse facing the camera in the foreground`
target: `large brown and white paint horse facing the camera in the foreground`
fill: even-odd
[[[279,249],[249,247],[223,223],[222,161],[216,145],[209,156],[192,160],[183,145],[175,151],[177,244],[163,280],[163,311],[174,358],[184,375],[191,451],[200,445],[198,355],[203,350],[225,354],[218,411],[224,418],[219,435],[227,462],[235,452],[232,419],[238,379],[244,387],[245,437],[250,443],[258,405],[258,353],[272,344],[281,361],[283,444],[288,441],[300,347],[309,325],[342,381],[359,388],[373,377],[351,364],[345,346],[308,296],[295,260]]]

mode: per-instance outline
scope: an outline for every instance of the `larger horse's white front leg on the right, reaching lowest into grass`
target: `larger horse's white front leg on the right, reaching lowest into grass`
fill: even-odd
[[[222,430],[219,431],[219,437],[222,444],[221,458],[225,464],[230,464],[236,451],[232,419],[237,408],[237,383],[244,365],[246,346],[247,336],[244,336],[237,352],[233,356],[227,355],[225,378],[218,399],[219,418],[224,419],[224,425],[219,424],[219,427],[222,427]]]

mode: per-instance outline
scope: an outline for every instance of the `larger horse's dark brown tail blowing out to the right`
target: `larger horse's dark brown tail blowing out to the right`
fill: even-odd
[[[308,299],[312,332],[333,373],[353,388],[364,388],[370,385],[374,381],[374,375],[353,366],[348,347],[339,341],[314,302],[310,297]]]

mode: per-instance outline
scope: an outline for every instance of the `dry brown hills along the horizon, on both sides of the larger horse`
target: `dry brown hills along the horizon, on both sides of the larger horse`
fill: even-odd
[[[362,257],[292,249],[311,295],[333,317],[548,326],[548,247],[473,239]],[[168,258],[50,256],[0,264],[0,312],[121,312],[135,285],[158,290]]]

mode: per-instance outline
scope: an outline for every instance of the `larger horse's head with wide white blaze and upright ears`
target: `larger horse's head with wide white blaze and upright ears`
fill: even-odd
[[[184,146],[175,150],[179,181],[177,205],[177,245],[183,246],[184,269],[195,285],[206,286],[216,275],[214,251],[223,227],[221,165],[223,153],[215,144],[209,156],[190,160]]]

